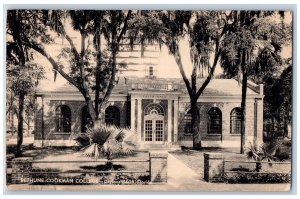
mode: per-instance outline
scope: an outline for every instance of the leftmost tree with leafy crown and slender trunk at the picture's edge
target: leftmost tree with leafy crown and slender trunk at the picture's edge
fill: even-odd
[[[6,42],[6,72],[7,87],[11,92],[11,110],[15,108],[14,100],[18,99],[18,136],[15,155],[21,155],[21,145],[23,143],[23,122],[25,99],[32,95],[40,79],[43,78],[43,69],[33,62],[31,49],[24,45],[27,37],[31,39],[40,38],[47,40],[47,35],[40,35],[43,26],[36,21],[38,12],[27,12],[24,10],[9,10],[7,12],[7,42]],[[28,19],[26,21],[26,19]],[[27,101],[28,102],[28,101]],[[27,104],[27,110],[30,104]],[[13,113],[14,111],[12,111]],[[28,112],[27,112],[28,113]],[[28,116],[28,114],[27,114]],[[14,114],[11,115],[13,120]],[[12,122],[12,121],[11,121]]]

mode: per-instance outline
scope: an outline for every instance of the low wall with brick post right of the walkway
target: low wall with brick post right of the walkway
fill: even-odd
[[[221,153],[204,153],[204,180],[207,182],[287,183],[291,177],[290,162],[225,160]],[[259,170],[257,170],[259,165]]]

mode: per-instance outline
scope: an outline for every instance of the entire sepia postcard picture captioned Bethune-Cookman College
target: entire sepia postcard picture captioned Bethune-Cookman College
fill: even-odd
[[[7,9],[6,189],[290,191],[294,12],[227,8]]]

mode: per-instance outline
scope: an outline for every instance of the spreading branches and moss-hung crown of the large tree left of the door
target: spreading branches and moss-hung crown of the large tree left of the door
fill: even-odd
[[[20,10],[23,18],[18,28],[24,31],[20,42],[33,49],[50,62],[54,80],[60,74],[83,95],[93,122],[101,119],[102,108],[118,81],[118,68],[124,64],[116,62],[120,42],[124,39],[131,11],[120,10]],[[11,16],[15,20],[15,16]],[[36,27],[30,26],[32,23]],[[11,23],[13,24],[13,23]],[[30,24],[28,26],[28,24]],[[69,26],[76,32],[69,35]],[[55,35],[67,42],[61,47],[58,57],[47,50],[55,44]],[[73,35],[72,35],[73,36]],[[101,41],[103,40],[104,41]],[[77,45],[79,40],[79,45]],[[79,47],[79,49],[78,49]],[[90,92],[95,92],[95,104]]]

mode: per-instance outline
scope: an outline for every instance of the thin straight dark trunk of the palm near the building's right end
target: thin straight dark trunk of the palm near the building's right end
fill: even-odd
[[[240,153],[245,152],[245,129],[246,129],[246,96],[247,96],[247,72],[243,73],[242,80],[242,102],[241,102],[241,149]]]

